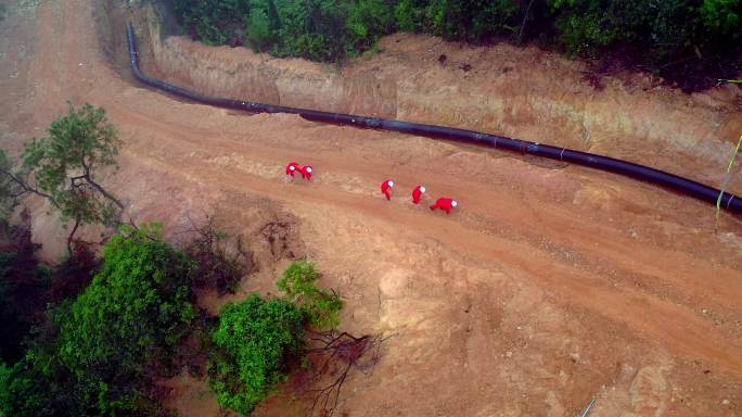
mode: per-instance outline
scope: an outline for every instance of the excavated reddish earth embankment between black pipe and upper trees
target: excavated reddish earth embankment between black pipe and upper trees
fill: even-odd
[[[585,64],[554,53],[409,34],[384,38],[383,53],[337,68],[164,37],[162,17],[145,10],[148,23],[138,27],[149,58],[143,71],[207,96],[487,131],[707,184],[719,182],[742,131],[742,99],[733,85],[688,96],[647,75],[624,74],[597,91],[581,79]],[[731,189],[737,187],[742,180]]]

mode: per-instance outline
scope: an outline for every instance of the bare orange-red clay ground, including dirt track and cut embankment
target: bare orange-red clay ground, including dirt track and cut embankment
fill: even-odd
[[[280,104],[314,100],[570,144],[708,184],[722,178],[742,131],[737,87],[683,96],[626,75],[593,91],[581,64],[532,48],[408,35],[336,71],[180,38],[162,43],[146,35],[139,2],[129,4],[144,68],[204,92],[235,88],[230,74],[255,71],[256,88],[273,86],[266,97]],[[189,215],[214,214],[253,242],[261,269],[229,299],[274,292],[287,257],[316,260],[321,283],[346,302],[344,329],[394,334],[373,372],[348,379],[340,412],[572,416],[596,399],[591,416],[742,415],[739,218],[724,215],[714,232],[709,204],[611,174],[175,100],[128,75],[125,17],[86,0],[10,7],[0,23],[2,147],[17,152],[42,136],[67,100],[104,106],[124,147],[120,170],[102,180],[131,216],[163,220],[175,238]],[[202,67],[212,70],[199,75]],[[375,81],[362,79],[394,87],[373,92]],[[251,86],[240,88],[250,99]],[[336,99],[317,97],[322,90]],[[293,160],[314,164],[311,184],[285,179]],[[386,177],[397,182],[392,202],[378,191]],[[739,170],[735,178],[739,193]],[[447,216],[412,205],[420,182],[427,199],[460,206]],[[39,201],[31,208],[35,239],[54,258],[65,231]],[[225,301],[202,299],[214,312]],[[203,381],[164,384],[181,416],[220,415]],[[274,396],[256,415],[302,415],[307,404],[290,399]]]

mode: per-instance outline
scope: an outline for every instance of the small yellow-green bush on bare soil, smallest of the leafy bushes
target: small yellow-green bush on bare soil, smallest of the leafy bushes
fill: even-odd
[[[317,288],[315,281],[319,277],[315,264],[296,261],[283,273],[278,288],[286,294],[289,301],[302,308],[312,327],[335,328],[340,325],[343,301],[334,292]]]

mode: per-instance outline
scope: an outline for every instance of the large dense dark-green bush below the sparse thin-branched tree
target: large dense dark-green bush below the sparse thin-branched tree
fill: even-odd
[[[103,256],[101,271],[61,319],[59,356],[86,387],[86,403],[131,412],[137,387],[121,381],[141,380],[165,362],[195,317],[193,264],[159,240],[156,225],[113,237]]]

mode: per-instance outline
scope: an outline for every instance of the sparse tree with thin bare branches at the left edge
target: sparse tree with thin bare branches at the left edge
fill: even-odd
[[[95,178],[99,169],[117,167],[119,147],[116,129],[103,109],[71,104],[66,116],[52,122],[48,138],[26,146],[21,169],[13,170],[5,153],[0,153],[0,200],[5,201],[0,207],[8,211],[29,193],[46,198],[65,224],[73,222],[67,238],[72,253],[79,226],[113,226],[120,220],[124,204]]]

